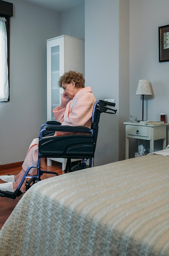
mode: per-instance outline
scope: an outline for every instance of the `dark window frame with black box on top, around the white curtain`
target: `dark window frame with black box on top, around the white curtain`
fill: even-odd
[[[8,80],[9,80],[9,40],[10,40],[10,17],[13,16],[13,4],[0,0],[0,17],[6,19],[5,25],[7,29],[7,63],[8,63]],[[0,41],[2,43],[2,41]],[[0,58],[2,61],[2,58]],[[0,63],[0,66],[2,63]],[[0,85],[1,86],[1,85]],[[5,101],[9,101],[9,98]]]

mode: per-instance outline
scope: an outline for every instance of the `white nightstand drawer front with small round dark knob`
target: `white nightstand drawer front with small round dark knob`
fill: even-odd
[[[127,135],[129,136],[149,137],[149,127],[128,125],[127,128]]]

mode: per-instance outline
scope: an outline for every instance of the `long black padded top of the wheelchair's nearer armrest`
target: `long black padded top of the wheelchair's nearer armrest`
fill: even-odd
[[[63,132],[90,132],[90,128],[84,126],[46,126],[46,130]]]

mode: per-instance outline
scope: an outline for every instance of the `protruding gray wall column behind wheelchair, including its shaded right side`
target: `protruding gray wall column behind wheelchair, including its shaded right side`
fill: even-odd
[[[85,1],[85,76],[96,98],[114,99],[118,110],[116,115],[101,115],[95,165],[124,159],[123,121],[129,115],[128,0]]]

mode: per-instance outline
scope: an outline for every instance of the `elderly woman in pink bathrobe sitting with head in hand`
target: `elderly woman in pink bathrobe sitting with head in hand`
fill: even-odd
[[[83,74],[75,71],[66,72],[60,77],[59,87],[64,89],[60,106],[53,110],[56,121],[66,126],[85,126],[90,128],[92,110],[96,99],[92,93],[91,87],[84,86],[85,79]],[[55,132],[54,136],[66,135],[64,132]],[[6,183],[0,184],[0,190],[14,192],[20,184],[27,168],[33,164],[37,164],[38,158],[38,138],[33,139],[27,152],[22,170],[18,175],[3,175],[1,180]],[[29,171],[30,175],[35,173],[36,168]],[[21,191],[25,191],[25,184],[21,186]]]

